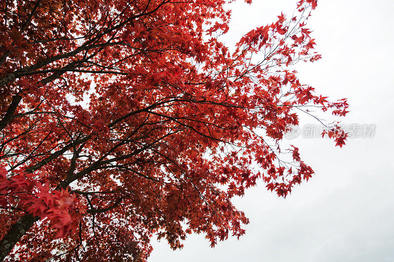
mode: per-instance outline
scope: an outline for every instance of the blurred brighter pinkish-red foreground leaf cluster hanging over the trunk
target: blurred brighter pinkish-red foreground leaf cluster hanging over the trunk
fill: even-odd
[[[85,206],[67,189],[50,192],[49,186],[35,177],[25,172],[14,172],[7,177],[7,171],[0,168],[0,207],[26,210],[47,219],[58,228],[57,237],[65,237],[86,214]]]

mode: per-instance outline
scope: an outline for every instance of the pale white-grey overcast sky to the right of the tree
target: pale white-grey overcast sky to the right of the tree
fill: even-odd
[[[291,15],[296,0],[238,0],[228,43]],[[214,249],[191,235],[182,250],[153,242],[149,262],[394,261],[394,0],[319,0],[308,27],[323,59],[298,64],[302,83],[332,99],[348,98],[345,124],[375,124],[373,138],[292,140],[316,175],[285,200],[263,183],[236,200],[250,218],[246,234]],[[300,126],[313,123],[302,118]]]

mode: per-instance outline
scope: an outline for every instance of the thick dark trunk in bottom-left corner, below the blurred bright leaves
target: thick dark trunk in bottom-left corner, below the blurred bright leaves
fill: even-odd
[[[34,218],[32,214],[24,215],[8,230],[0,241],[0,261],[4,260],[14,248],[15,244],[29,231],[37,220],[38,219]]]

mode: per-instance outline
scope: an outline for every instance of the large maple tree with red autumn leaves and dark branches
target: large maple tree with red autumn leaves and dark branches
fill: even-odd
[[[146,261],[154,235],[214,246],[245,233],[231,199],[258,179],[286,197],[313,175],[279,142],[309,106],[347,113],[291,69],[321,58],[317,0],[234,50],[227,2],[1,1],[1,260]]]

